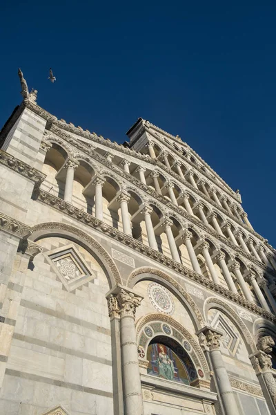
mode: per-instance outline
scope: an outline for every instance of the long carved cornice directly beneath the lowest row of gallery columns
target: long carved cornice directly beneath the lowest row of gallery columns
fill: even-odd
[[[155,261],[158,261],[160,264],[168,266],[168,268],[175,270],[180,275],[185,275],[189,279],[198,282],[201,286],[206,286],[215,293],[218,293],[219,295],[226,297],[230,301],[235,302],[235,304],[239,306],[244,306],[244,308],[253,311],[253,313],[256,313],[257,315],[261,315],[262,317],[266,318],[267,320],[270,320],[271,322],[276,322],[276,317],[272,313],[268,313],[263,308],[257,306],[253,302],[249,302],[248,300],[244,299],[243,297],[240,297],[232,291],[229,291],[223,286],[215,284],[215,282],[204,277],[203,275],[195,273],[195,271],[192,271],[183,266],[182,264],[179,264],[178,262],[174,261],[173,259],[170,259],[165,255],[162,255],[157,250],[149,248],[143,243],[137,241],[137,239],[129,237],[123,232],[120,232],[119,230],[113,228],[110,225],[107,225],[103,221],[99,221],[99,219],[96,219],[90,214],[85,213],[78,208],[75,208],[75,206],[70,205],[70,203],[63,201],[57,198],[56,196],[49,194],[48,192],[44,192],[43,190],[38,190],[37,200],[41,201],[42,203],[45,203],[46,205],[51,206],[52,208],[55,208],[56,210],[59,210],[59,212],[62,212],[63,214],[67,214],[71,218],[76,219],[77,221],[84,223],[85,225],[88,225],[95,230],[98,230],[102,234],[108,235],[113,240],[124,243],[124,245],[128,246],[128,248],[132,248],[137,252],[146,255],[150,259],[154,259]]]

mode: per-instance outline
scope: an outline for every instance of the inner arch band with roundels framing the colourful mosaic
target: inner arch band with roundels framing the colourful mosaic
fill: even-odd
[[[155,324],[155,329],[151,329],[150,324],[157,322],[161,323],[160,326],[158,327],[157,324]],[[148,326],[152,331],[152,336],[146,335],[147,331],[145,332],[144,330],[146,329],[146,326]],[[137,344],[139,344],[139,347],[143,347],[145,352],[147,351],[150,342],[159,335],[169,335],[170,338],[173,338],[178,344],[181,345],[181,347],[183,347],[185,342],[187,342],[187,347],[188,349],[190,348],[189,356],[193,361],[193,364],[197,369],[201,369],[203,371],[205,379],[209,378],[210,369],[201,347],[189,331],[172,317],[161,313],[151,313],[141,317],[136,324],[136,332]]]

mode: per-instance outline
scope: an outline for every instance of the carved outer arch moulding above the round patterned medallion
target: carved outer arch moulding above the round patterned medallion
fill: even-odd
[[[190,297],[190,295],[178,282],[175,281],[175,279],[163,271],[150,267],[137,268],[129,275],[126,286],[133,288],[138,282],[147,279],[165,286],[182,303],[184,303],[196,330],[199,330],[201,327],[205,326],[206,322],[204,321],[204,317],[202,317],[201,312],[199,311],[199,308],[197,307],[197,304],[195,304],[193,298]]]

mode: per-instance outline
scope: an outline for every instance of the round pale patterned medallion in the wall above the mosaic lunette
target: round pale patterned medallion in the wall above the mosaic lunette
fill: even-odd
[[[172,314],[175,311],[175,304],[170,297],[170,293],[160,284],[151,282],[148,285],[148,297],[157,311],[166,314]]]

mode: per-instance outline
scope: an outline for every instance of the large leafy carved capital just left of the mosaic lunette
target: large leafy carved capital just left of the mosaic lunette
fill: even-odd
[[[143,297],[127,287],[116,286],[106,295],[108,301],[108,315],[110,317],[135,318],[136,308],[141,304]]]

